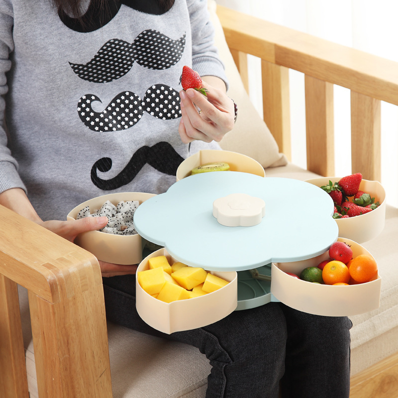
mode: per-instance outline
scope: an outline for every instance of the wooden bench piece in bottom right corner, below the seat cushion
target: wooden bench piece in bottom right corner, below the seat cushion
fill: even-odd
[[[351,378],[350,398],[397,398],[398,352]]]

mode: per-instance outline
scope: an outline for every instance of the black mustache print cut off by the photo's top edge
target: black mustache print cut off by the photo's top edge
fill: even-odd
[[[157,0],[103,0],[102,2],[91,0],[86,13],[81,18],[72,18],[61,9],[58,10],[58,15],[69,29],[75,32],[89,33],[110,22],[122,4],[147,14],[162,15],[174,5],[174,1],[166,7],[161,7]]]

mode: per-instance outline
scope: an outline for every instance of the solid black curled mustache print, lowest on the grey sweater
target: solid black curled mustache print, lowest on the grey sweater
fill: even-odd
[[[112,168],[112,159],[99,159],[91,169],[91,181],[103,191],[115,190],[130,183],[147,163],[161,173],[175,176],[183,160],[184,158],[168,142],[161,141],[152,147],[139,148],[126,167],[116,177],[109,180],[100,179],[97,171],[108,172]]]

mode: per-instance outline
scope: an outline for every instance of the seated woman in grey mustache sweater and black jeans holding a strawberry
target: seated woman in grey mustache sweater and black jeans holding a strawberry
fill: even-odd
[[[212,36],[204,0],[0,0],[0,204],[73,241],[107,222],[62,221],[84,200],[167,190],[233,126]],[[183,65],[207,98],[181,90]],[[347,318],[270,303],[163,335],[136,312],[136,265],[100,267],[109,319],[207,356],[207,398],[277,397],[280,384],[283,397],[348,397]]]

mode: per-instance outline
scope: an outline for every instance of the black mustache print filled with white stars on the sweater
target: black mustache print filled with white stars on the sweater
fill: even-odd
[[[146,91],[143,100],[126,91],[113,98],[102,112],[96,112],[92,108],[92,102],[101,100],[93,94],[87,94],[78,102],[78,113],[90,130],[122,131],[138,123],[144,112],[158,119],[177,119],[181,116],[179,98],[178,91],[156,84]]]

